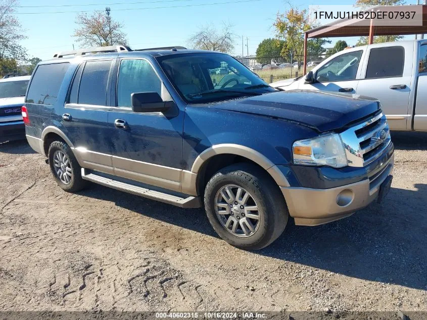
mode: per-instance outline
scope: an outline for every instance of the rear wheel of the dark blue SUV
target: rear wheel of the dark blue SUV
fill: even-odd
[[[49,147],[48,157],[58,186],[68,192],[80,191],[86,186],[86,181],[81,178],[81,167],[65,142],[54,141]]]

